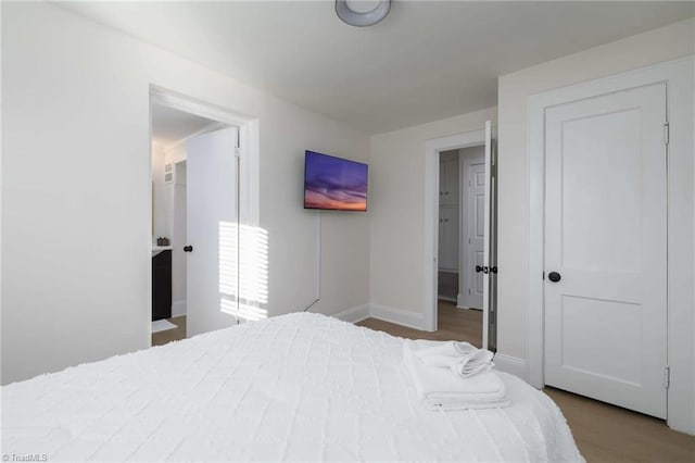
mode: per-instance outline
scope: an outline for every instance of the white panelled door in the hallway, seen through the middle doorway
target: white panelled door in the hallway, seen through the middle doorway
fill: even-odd
[[[466,191],[466,234],[467,255],[465,265],[468,276],[466,281],[466,305],[482,309],[482,292],[485,281],[484,273],[484,220],[485,220],[485,163],[484,160],[467,161]]]

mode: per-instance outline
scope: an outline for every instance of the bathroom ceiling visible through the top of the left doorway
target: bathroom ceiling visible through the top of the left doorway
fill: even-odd
[[[152,145],[169,147],[193,134],[219,127],[222,124],[159,104],[152,105]]]

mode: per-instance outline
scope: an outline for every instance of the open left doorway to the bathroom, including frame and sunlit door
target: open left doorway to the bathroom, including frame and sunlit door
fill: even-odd
[[[258,121],[155,87],[150,105],[152,343],[266,317]]]

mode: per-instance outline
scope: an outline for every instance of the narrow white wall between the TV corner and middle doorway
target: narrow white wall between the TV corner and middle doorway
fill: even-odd
[[[425,142],[482,130],[494,108],[370,139],[370,300],[372,315],[424,326]],[[427,295],[429,298],[431,295]]]

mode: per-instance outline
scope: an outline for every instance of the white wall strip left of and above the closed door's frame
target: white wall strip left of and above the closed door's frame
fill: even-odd
[[[526,358],[528,97],[694,52],[695,21],[675,23],[500,77],[498,352]]]

